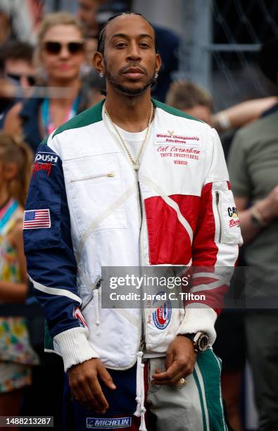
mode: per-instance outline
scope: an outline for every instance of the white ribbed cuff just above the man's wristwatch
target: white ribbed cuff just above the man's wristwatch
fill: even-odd
[[[185,307],[184,320],[179,325],[177,334],[195,334],[198,331],[208,335],[210,346],[216,338],[215,320],[217,313],[206,304],[192,303]]]

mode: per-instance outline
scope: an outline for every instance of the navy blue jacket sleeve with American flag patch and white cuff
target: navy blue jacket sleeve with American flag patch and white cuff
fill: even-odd
[[[87,360],[83,354],[78,355],[78,346],[74,345],[76,342],[84,344],[89,330],[79,311],[82,301],[76,285],[77,266],[72,250],[63,165],[58,154],[44,143],[35,156],[23,237],[27,271],[34,294],[44,308],[54,348],[56,342],[56,350],[68,365],[69,361],[73,365]],[[73,353],[68,349],[75,350],[77,357],[73,360],[69,359]],[[89,346],[88,355],[97,356]]]

